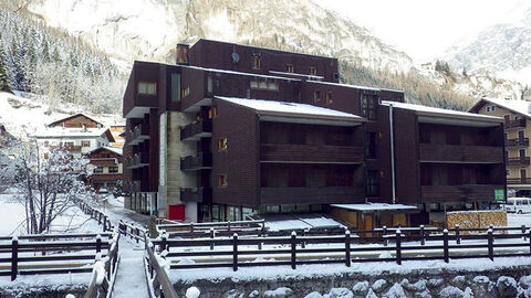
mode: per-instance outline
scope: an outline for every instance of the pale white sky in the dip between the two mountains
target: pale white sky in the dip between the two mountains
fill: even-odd
[[[313,0],[350,18],[417,63],[444,56],[487,26],[513,22],[531,0]]]

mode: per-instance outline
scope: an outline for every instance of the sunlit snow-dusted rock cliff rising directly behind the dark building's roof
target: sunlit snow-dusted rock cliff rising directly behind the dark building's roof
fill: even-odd
[[[293,0],[30,0],[28,10],[117,58],[174,61],[199,38],[333,55],[408,72],[412,58],[313,2]],[[280,9],[281,8],[281,9]]]

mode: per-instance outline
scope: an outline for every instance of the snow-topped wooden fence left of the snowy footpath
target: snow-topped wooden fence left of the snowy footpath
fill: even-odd
[[[1,237],[0,276],[90,273],[97,255],[110,255],[112,234],[53,234]],[[106,251],[106,252],[105,252]],[[58,254],[61,253],[61,254]],[[40,255],[38,255],[40,254]]]

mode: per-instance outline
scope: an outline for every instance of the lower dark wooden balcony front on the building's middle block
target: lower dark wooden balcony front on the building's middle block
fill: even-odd
[[[364,203],[362,187],[260,188],[261,205]]]

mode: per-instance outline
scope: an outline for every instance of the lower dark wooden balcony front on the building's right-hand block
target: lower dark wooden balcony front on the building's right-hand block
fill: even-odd
[[[493,201],[501,184],[421,185],[423,202]]]

